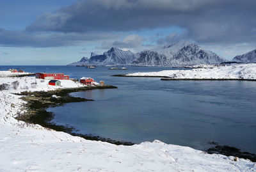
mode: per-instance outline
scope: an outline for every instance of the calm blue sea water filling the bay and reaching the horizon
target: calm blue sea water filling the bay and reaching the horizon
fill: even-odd
[[[15,66],[0,66],[0,70]],[[71,93],[94,102],[49,108],[54,123],[70,125],[81,134],[120,141],[153,141],[211,147],[207,142],[256,153],[256,82],[160,81],[159,78],[111,77],[129,72],[168,70],[168,67],[128,66],[88,69],[76,66],[16,66],[28,72],[64,72],[70,77],[93,77],[114,90]]]

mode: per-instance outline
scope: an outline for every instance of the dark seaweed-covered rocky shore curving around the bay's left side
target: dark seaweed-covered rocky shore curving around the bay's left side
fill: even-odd
[[[134,145],[134,143],[127,141],[115,141],[113,139],[93,136],[91,134],[79,134],[74,127],[67,125],[56,125],[52,123],[51,120],[54,118],[54,113],[48,112],[45,109],[49,107],[58,107],[63,106],[70,102],[86,102],[94,101],[91,99],[72,97],[68,93],[77,92],[77,91],[87,91],[87,90],[96,90],[96,89],[115,89],[116,86],[105,85],[105,86],[88,86],[83,88],[63,88],[58,90],[51,91],[23,91],[21,93],[15,93],[15,95],[22,95],[22,100],[26,101],[27,104],[24,105],[27,113],[17,116],[17,120],[25,121],[26,123],[33,123],[42,125],[47,129],[53,129],[56,131],[67,132],[72,136],[83,137],[84,139],[93,140],[93,141],[105,141],[115,145]]]

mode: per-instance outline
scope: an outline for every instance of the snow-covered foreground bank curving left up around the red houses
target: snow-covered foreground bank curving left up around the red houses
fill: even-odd
[[[0,72],[1,73],[1,72]],[[19,81],[17,90],[12,82]],[[33,84],[36,82],[35,84]],[[0,84],[11,84],[0,91],[0,171],[256,171],[250,160],[207,154],[193,148],[166,145],[161,141],[133,146],[116,146],[101,141],[88,141],[64,132],[45,129],[15,120],[22,114],[24,101],[20,91],[47,91],[60,88],[47,86],[35,77],[0,77]],[[82,86],[61,81],[67,88]]]

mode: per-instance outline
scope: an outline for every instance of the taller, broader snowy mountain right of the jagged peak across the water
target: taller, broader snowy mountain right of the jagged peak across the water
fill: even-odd
[[[205,51],[195,43],[180,41],[161,49],[140,52],[132,64],[150,66],[179,66],[216,64],[226,61],[211,51]]]

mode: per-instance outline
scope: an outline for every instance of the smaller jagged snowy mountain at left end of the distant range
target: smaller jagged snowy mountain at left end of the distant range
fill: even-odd
[[[92,52],[90,59],[82,58],[70,65],[131,65],[137,55],[131,51],[122,51],[112,47],[108,52],[97,55]]]

